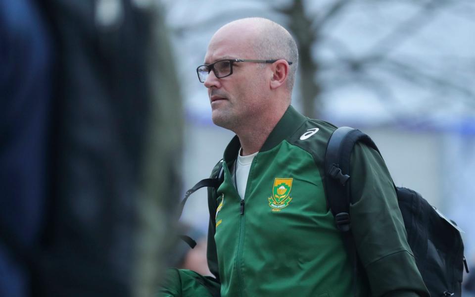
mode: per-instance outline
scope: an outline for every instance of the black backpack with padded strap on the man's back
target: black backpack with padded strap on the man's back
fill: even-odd
[[[327,145],[325,172],[327,199],[350,255],[355,254],[351,238],[349,205],[351,195],[345,184],[350,178],[350,156],[357,142],[380,153],[371,138],[359,130],[341,127]],[[468,271],[462,237],[455,222],[445,218],[417,192],[395,187],[407,239],[431,296],[461,296],[463,269]],[[353,259],[358,267],[357,259]],[[358,269],[355,269],[357,273]],[[356,277],[356,276],[355,276]]]

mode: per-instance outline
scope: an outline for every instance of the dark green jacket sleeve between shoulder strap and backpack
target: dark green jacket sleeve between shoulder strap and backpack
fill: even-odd
[[[351,226],[372,295],[428,297],[380,154],[357,144],[350,164]]]

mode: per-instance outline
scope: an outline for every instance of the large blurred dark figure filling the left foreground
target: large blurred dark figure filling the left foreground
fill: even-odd
[[[157,5],[0,4],[1,296],[156,288],[182,131]]]

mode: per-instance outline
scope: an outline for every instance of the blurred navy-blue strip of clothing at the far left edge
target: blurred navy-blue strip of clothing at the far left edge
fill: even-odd
[[[0,296],[30,295],[47,208],[52,45],[31,0],[0,1]]]

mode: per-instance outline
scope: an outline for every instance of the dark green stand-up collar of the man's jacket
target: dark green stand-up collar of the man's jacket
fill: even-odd
[[[259,151],[266,151],[276,147],[283,140],[292,136],[306,120],[307,118],[305,116],[295,110],[292,105],[289,105]],[[232,162],[236,159],[240,146],[239,138],[235,136],[224,151],[224,159],[226,162]]]

